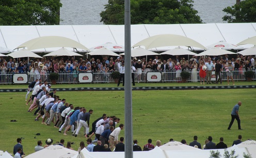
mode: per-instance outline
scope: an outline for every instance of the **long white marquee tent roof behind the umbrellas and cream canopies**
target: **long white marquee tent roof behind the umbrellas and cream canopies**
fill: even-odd
[[[256,23],[131,25],[131,45],[158,34],[186,36],[203,46],[211,45],[216,41],[226,41],[236,45],[249,37],[256,36]],[[0,26],[0,47],[14,49],[30,39],[42,36],[71,38],[87,48],[106,42],[124,45],[124,25]],[[253,45],[241,46],[246,49]],[[150,50],[166,51],[175,47],[177,46]],[[52,52],[58,49],[45,48],[36,51]]]

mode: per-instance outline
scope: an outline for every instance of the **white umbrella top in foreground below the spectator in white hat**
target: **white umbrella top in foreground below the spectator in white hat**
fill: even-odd
[[[78,152],[75,150],[64,148],[60,145],[51,145],[51,146],[44,148],[40,151],[31,153],[31,154],[27,155],[26,157],[27,158],[29,158],[29,157],[31,157],[31,158],[60,157],[62,155],[68,154],[68,153],[75,155]]]

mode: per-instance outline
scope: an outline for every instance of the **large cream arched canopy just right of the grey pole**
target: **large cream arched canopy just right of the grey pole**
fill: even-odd
[[[198,47],[206,50],[206,48],[203,45],[194,41],[193,39],[177,34],[159,34],[152,37],[148,37],[136,43],[132,47],[137,46],[145,46],[146,49],[165,46],[187,46]]]

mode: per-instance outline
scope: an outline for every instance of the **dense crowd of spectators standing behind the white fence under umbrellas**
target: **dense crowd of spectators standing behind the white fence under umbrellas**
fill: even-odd
[[[161,72],[177,72],[175,75],[177,80],[180,80],[179,73],[181,71],[191,71],[198,72],[200,71],[200,63],[207,63],[210,56],[208,57],[199,57],[192,56],[191,58],[185,59],[184,57],[175,56],[173,58],[163,58],[159,59],[158,56],[154,58],[149,58],[148,61],[145,57],[141,57],[137,60],[136,57],[133,58],[132,65],[136,68],[136,78],[137,81],[141,80],[141,73],[148,71],[161,71]],[[225,66],[228,66],[230,62],[234,67],[234,70],[239,74],[244,75],[244,70],[255,68],[254,56],[243,56],[237,55],[229,57],[226,55],[212,56],[211,63],[215,66],[217,61],[221,64],[224,69]],[[93,78],[94,80],[101,80],[104,82],[109,81],[109,75],[105,74],[107,72],[119,71],[121,63],[124,63],[124,58],[120,57],[103,57],[97,58],[96,60],[92,57],[90,60],[88,58],[79,58],[76,60],[74,57],[63,58],[63,57],[47,57],[47,58],[30,58],[27,61],[26,58],[18,58],[18,61],[12,58],[8,58],[8,61],[4,57],[0,57],[0,70],[1,70],[1,82],[4,83],[7,76],[4,74],[7,73],[29,73],[30,81],[42,78],[43,80],[48,80],[47,74],[51,72],[56,72],[59,74],[65,74],[67,77],[60,77],[60,82],[77,81],[77,74],[81,72],[91,72],[91,73],[102,73],[103,75],[98,78]],[[215,68],[214,68],[215,70]],[[196,76],[195,76],[196,75]],[[235,75],[234,79],[237,79]],[[192,75],[192,79],[198,77],[198,73]],[[173,78],[169,78],[171,80]],[[65,80],[65,81],[64,81]],[[195,80],[192,80],[195,81]]]

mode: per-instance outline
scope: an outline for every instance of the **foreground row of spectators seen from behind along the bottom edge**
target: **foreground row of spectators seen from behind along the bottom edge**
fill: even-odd
[[[122,124],[120,124],[120,125],[122,125]],[[94,145],[91,139],[87,139],[86,142],[87,142],[86,143],[87,146],[85,145],[85,142],[83,142],[83,141],[80,142],[79,147],[77,149],[78,152],[80,152],[84,148],[87,149],[89,152],[111,152],[112,151],[111,149],[109,149],[109,145],[108,144],[102,144],[102,141],[93,141],[97,145]],[[168,142],[168,143],[171,143],[171,142],[174,142],[174,140],[170,139],[170,142]],[[13,155],[17,155],[17,157],[21,157],[22,155],[23,156],[25,155],[25,153],[23,152],[23,146],[21,145],[21,143],[22,143],[22,139],[18,138],[17,139],[17,144],[13,147]],[[152,144],[151,139],[149,139],[148,143],[146,145],[144,145],[143,147],[140,147],[138,145],[138,143],[139,143],[138,140],[133,140],[133,143],[134,143],[134,145],[133,145],[133,151],[134,152],[136,152],[136,151],[150,151],[150,150],[155,148],[155,146]],[[209,136],[205,140],[205,144],[203,146],[201,146],[201,144],[198,142],[198,137],[196,135],[194,136],[194,140],[192,142],[190,142],[189,144],[187,144],[185,140],[182,140],[181,143],[184,144],[184,145],[189,145],[191,147],[195,147],[195,148],[198,148],[198,149],[204,149],[204,150],[207,150],[207,149],[209,149],[209,150],[212,150],[212,149],[227,149],[228,148],[228,146],[224,143],[223,137],[219,138],[219,143],[217,143],[217,144],[213,142],[213,137]],[[242,143],[242,135],[238,135],[237,140],[233,141],[232,146],[233,145],[238,145],[240,143]],[[71,147],[71,144],[73,144],[73,143],[72,142],[67,142],[66,148],[71,149],[71,150],[75,150]],[[166,143],[164,143],[164,144],[166,144]],[[49,147],[51,145],[59,145],[59,146],[65,147],[65,140],[61,139],[60,142],[56,142],[56,144],[53,144],[52,139],[47,139],[45,141],[44,146],[43,146],[43,142],[41,140],[39,140],[37,142],[37,146],[35,147],[35,152],[40,151],[40,150],[42,150],[46,147]],[[157,140],[156,141],[156,146],[160,147],[161,145],[162,145],[161,141]],[[113,151],[114,152],[122,152],[124,150],[125,150],[124,137],[120,137],[120,140],[115,145],[115,148],[114,148]]]

